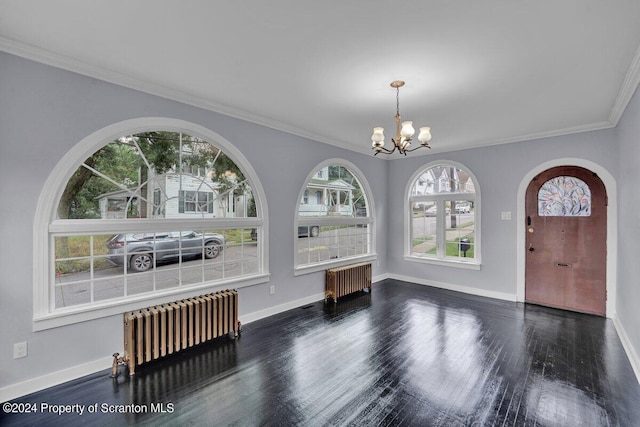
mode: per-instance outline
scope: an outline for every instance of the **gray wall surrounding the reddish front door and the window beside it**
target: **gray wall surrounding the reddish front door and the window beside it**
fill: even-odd
[[[390,230],[394,231],[389,233],[389,271],[487,293],[515,296],[518,187],[529,171],[556,158],[586,159],[603,166],[615,176],[618,162],[615,132],[612,129],[586,132],[391,162],[389,189],[404,190],[414,172],[437,159],[459,162],[473,172],[482,198],[482,268],[474,271],[403,261],[402,233],[395,232],[403,227],[403,194],[401,191],[389,191]],[[510,221],[501,219],[503,211],[511,212]]]

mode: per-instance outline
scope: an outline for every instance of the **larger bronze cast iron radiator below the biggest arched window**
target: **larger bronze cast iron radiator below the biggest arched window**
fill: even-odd
[[[113,375],[118,364],[126,364],[129,375],[136,366],[180,350],[240,332],[238,292],[225,290],[124,313],[124,356],[115,353]]]

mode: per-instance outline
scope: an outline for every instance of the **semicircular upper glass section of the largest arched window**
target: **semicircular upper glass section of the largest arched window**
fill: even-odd
[[[143,132],[100,148],[78,167],[61,219],[255,217],[251,186],[219,148],[181,132]]]

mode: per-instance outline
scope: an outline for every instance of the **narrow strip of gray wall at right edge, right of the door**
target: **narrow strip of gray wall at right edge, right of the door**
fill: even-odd
[[[640,90],[636,89],[616,131],[620,141],[617,312],[640,357]]]

